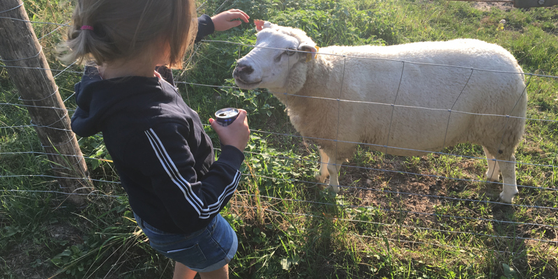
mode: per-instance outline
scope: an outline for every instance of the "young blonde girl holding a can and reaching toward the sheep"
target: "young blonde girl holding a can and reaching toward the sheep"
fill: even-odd
[[[166,66],[181,66],[196,33],[200,40],[238,18],[248,22],[241,10],[196,22],[193,0],[78,0],[68,31],[66,61],[98,65],[75,85],[72,129],[103,133],[137,224],[176,261],[174,278],[228,278],[238,242],[219,212],[239,183],[250,131],[244,110],[227,127],[209,119],[222,143],[214,160]]]

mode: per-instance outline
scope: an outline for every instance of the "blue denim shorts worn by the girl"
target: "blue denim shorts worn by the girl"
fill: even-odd
[[[239,241],[227,220],[217,214],[204,229],[190,234],[171,234],[149,225],[135,215],[137,225],[153,249],[193,271],[209,272],[228,264]]]

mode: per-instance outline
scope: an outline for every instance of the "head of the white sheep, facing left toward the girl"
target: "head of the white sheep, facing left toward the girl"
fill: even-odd
[[[300,29],[262,20],[255,24],[256,47],[237,61],[232,74],[236,85],[242,89],[286,89],[294,80],[300,82],[301,75],[306,80],[303,64],[317,53],[312,39]]]

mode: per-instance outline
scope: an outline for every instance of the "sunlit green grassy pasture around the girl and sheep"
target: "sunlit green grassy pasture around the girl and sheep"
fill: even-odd
[[[24,6],[35,22],[67,24],[73,1],[24,0]],[[558,277],[558,80],[552,77],[558,76],[558,6],[207,0],[199,1],[198,13],[229,8],[246,11],[250,24],[195,45],[185,69],[174,75],[202,121],[223,107],[249,114],[245,176],[222,212],[239,236],[231,278]],[[255,19],[303,29],[320,47],[453,38],[502,45],[525,73],[536,74],[526,77],[527,126],[516,152],[520,194],[514,205],[497,200],[501,184],[484,182],[483,149],[471,144],[421,157],[361,145],[341,169],[339,195],[324,191],[314,180],[317,146],[299,137],[285,106],[267,91],[234,86],[236,59],[255,44]],[[65,28],[33,28],[44,36],[50,67],[66,69],[55,50]],[[84,206],[67,202],[54,179],[40,176],[50,174],[49,162],[2,66],[0,278],[172,278],[172,262],[151,250],[133,220],[102,135],[79,140],[96,179]],[[55,71],[70,114],[80,71],[77,65]],[[206,132],[218,156],[218,138],[210,127]]]

